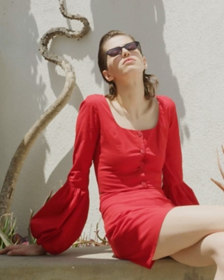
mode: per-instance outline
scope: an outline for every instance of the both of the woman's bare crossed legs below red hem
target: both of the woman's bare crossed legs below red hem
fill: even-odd
[[[224,207],[176,207],[166,216],[154,260],[170,255],[192,266],[217,265],[214,280],[224,279]]]

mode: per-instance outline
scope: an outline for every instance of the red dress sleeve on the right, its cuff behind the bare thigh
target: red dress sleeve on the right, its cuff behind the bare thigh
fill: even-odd
[[[169,132],[163,165],[163,191],[175,206],[199,204],[193,190],[183,181],[181,143],[176,106],[167,99]]]

